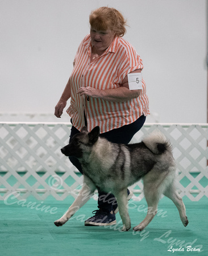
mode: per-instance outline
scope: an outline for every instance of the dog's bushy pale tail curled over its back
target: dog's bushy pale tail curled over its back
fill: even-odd
[[[165,151],[172,151],[172,144],[159,130],[153,131],[147,137],[143,138],[143,143],[154,154],[163,154]]]

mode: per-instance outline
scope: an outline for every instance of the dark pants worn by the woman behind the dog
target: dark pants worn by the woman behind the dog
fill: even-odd
[[[108,141],[113,143],[128,144],[135,133],[137,133],[142,126],[144,125],[146,117],[142,115],[134,123],[130,125],[124,125],[118,129],[107,131],[106,133],[100,134],[100,137],[106,138]],[[80,133],[74,126],[72,126],[69,143],[72,140],[73,136],[77,133]],[[74,156],[69,157],[70,162],[77,167],[77,169],[83,174],[82,167],[77,158]],[[116,200],[113,194],[106,194],[105,192],[98,191],[98,208],[105,209],[107,212],[113,210],[113,206],[116,205]],[[115,209],[115,206],[114,206]]]

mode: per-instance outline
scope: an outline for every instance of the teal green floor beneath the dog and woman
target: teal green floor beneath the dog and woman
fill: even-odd
[[[117,225],[108,228],[84,226],[84,220],[96,209],[96,201],[84,205],[64,226],[53,224],[73,202],[52,197],[36,201],[0,201],[0,255],[168,255],[172,249],[191,245],[194,251],[174,251],[173,255],[208,255],[207,212],[208,199],[198,202],[184,197],[189,225],[184,228],[172,201],[160,200],[159,214],[143,232],[120,232],[122,224],[117,214]],[[13,204],[11,204],[13,203]],[[34,204],[32,204],[34,203]],[[38,205],[39,204],[39,205]],[[142,205],[142,206],[141,206]],[[147,204],[130,200],[132,227],[145,217]],[[42,210],[42,211],[41,211]],[[181,250],[183,247],[181,248]]]

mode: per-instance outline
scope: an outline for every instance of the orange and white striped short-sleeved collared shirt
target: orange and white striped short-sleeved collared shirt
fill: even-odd
[[[84,112],[88,130],[99,126],[101,133],[135,122],[143,114],[148,115],[149,101],[144,80],[140,96],[124,102],[92,97],[88,101],[86,96],[77,94],[77,90],[85,86],[101,90],[122,86],[128,73],[143,69],[142,59],[135,48],[123,38],[116,37],[97,59],[90,62],[90,56],[91,39],[87,35],[78,47],[70,76],[71,100],[66,112],[72,118],[73,126],[81,130],[85,125]]]

